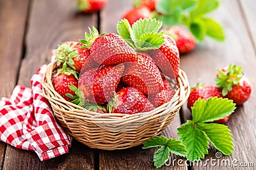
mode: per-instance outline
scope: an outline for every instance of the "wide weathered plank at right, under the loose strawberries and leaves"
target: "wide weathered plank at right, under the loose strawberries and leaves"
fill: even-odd
[[[245,3],[245,2],[244,2]],[[255,85],[255,52],[253,50],[252,41],[247,32],[243,13],[237,1],[222,1],[218,11],[212,14],[225,27],[227,39],[224,43],[217,43],[211,39],[205,40],[198,45],[192,53],[181,57],[181,67],[186,71],[191,87],[196,83],[205,83],[206,85],[215,85],[214,78],[217,69],[228,66],[230,63],[239,64],[243,67],[246,77],[250,79],[252,85]],[[255,86],[253,91],[255,91]],[[239,106],[233,113],[227,125],[232,131],[234,138],[234,152],[230,157],[223,156],[223,159],[230,161],[237,159],[241,162],[254,162],[256,164],[256,131],[255,131],[255,114],[256,108],[255,95]],[[191,117],[191,113],[186,107],[183,107],[184,119]],[[211,147],[209,155],[206,159],[216,159],[216,150]],[[236,169],[235,165],[228,166],[211,166],[208,162],[207,166],[193,166],[194,169]]]

